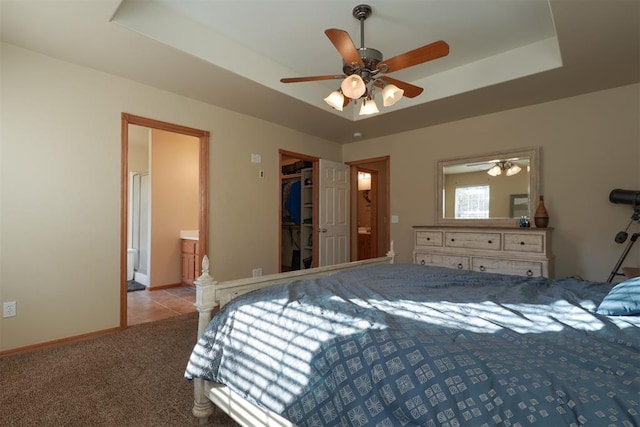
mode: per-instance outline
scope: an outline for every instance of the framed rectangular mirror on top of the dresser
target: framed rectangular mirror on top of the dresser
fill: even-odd
[[[540,148],[440,160],[436,170],[437,225],[518,227],[527,216],[533,226]]]

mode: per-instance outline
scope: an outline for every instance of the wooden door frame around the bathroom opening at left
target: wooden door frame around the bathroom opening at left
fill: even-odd
[[[209,251],[209,131],[193,129],[133,114],[121,114],[121,171],[120,171],[120,329],[127,328],[127,227],[129,209],[129,125],[179,133],[198,138],[198,261]]]

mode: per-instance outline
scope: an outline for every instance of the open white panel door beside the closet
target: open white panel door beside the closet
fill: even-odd
[[[349,166],[319,161],[318,266],[349,261]]]

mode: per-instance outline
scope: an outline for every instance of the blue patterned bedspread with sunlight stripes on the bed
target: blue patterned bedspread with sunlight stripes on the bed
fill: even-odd
[[[300,426],[638,426],[640,321],[612,285],[378,265],[254,291],[185,376]]]

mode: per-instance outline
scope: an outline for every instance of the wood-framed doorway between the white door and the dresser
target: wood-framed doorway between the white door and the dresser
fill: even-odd
[[[389,157],[358,160],[351,167],[351,260],[384,256],[390,249]]]

